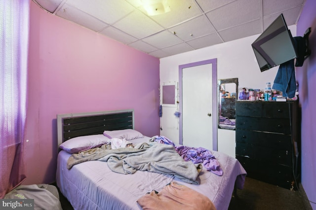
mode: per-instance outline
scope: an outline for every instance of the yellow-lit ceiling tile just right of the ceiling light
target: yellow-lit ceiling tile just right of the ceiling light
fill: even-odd
[[[170,28],[202,14],[194,0],[169,0],[170,12],[151,16],[164,28]]]

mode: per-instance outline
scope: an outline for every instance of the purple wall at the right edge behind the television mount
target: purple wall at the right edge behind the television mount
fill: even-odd
[[[312,55],[296,69],[299,99],[302,106],[302,185],[316,210],[316,1],[306,0],[297,24],[297,35],[303,36],[308,28]]]

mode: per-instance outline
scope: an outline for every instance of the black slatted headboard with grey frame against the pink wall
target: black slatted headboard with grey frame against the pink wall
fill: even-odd
[[[58,146],[74,137],[134,129],[134,110],[57,114]]]

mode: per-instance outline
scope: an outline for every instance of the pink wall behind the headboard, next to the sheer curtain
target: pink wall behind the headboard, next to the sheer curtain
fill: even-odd
[[[31,0],[27,179],[55,181],[56,114],[134,109],[159,134],[159,59],[42,10]]]

